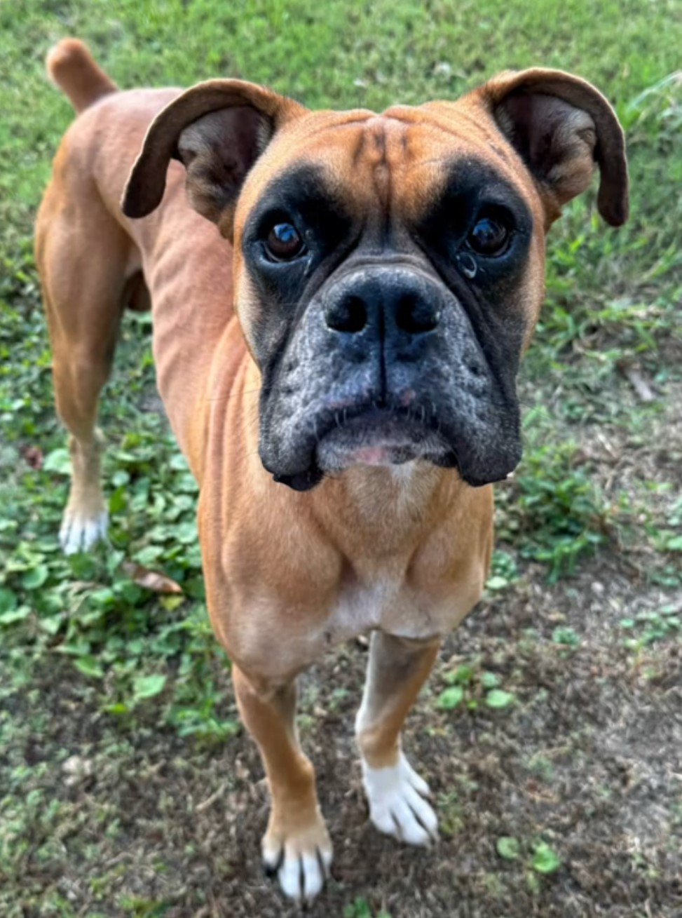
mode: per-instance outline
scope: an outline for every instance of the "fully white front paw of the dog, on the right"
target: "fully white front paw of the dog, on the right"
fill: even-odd
[[[363,760],[363,785],[369,816],[379,832],[408,845],[438,838],[438,818],[427,798],[429,785],[400,754],[397,765],[373,768]]]

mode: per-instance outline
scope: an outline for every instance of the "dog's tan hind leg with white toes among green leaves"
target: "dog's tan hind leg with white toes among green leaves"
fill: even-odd
[[[130,242],[98,197],[66,198],[50,186],[37,225],[37,260],[52,345],[57,411],[70,433],[73,479],[61,523],[67,554],[106,535],[100,480],[102,437],[95,428],[126,290]]]

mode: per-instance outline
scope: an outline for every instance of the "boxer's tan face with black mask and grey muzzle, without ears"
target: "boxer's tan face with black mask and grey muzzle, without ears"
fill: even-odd
[[[263,465],[293,487],[415,458],[478,485],[519,461],[542,214],[509,154],[465,129],[408,107],[311,115],[247,180],[237,304]]]

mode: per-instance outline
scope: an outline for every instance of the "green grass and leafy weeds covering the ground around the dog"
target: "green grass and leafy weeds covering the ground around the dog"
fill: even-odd
[[[528,914],[536,906],[562,918],[588,913],[588,898],[576,899],[582,912],[570,911],[576,884],[598,888],[587,868],[580,871],[587,864],[600,876],[610,864],[614,875],[630,878],[633,896],[648,890],[662,918],[679,913],[672,880],[664,884],[665,844],[675,843],[682,823],[674,782],[665,785],[671,788],[668,842],[661,834],[626,865],[618,832],[625,837],[630,829],[617,831],[615,804],[609,810],[603,802],[619,791],[595,737],[609,733],[604,711],[635,722],[644,711],[667,710],[665,692],[675,690],[670,670],[681,636],[676,594],[682,587],[682,76],[676,73],[682,7],[677,0],[598,7],[566,0],[561,9],[557,17],[549,0],[0,6],[0,912],[8,918],[232,914],[234,901],[254,913],[246,900],[225,904],[224,890],[247,868],[239,856],[226,860],[221,848],[207,854],[207,838],[224,830],[185,819],[166,799],[173,789],[176,800],[203,800],[227,780],[241,812],[248,793],[231,763],[236,756],[251,772],[257,766],[238,735],[229,661],[207,624],[196,487],[154,395],[144,316],[124,320],[102,406],[112,548],[66,559],[56,542],[68,459],[52,407],[31,226],[51,156],[72,118],[42,64],[50,44],[66,34],[86,39],[125,86],[191,84],[225,74],[273,85],[309,106],[381,109],[396,100],[453,97],[498,70],[542,64],[580,73],[613,100],[628,135],[632,219],[619,231],[606,229],[587,194],[553,229],[546,305],[521,380],[525,456],[498,489],[498,551],[487,599],[455,639],[465,659],[444,661],[434,678],[414,741],[428,743],[437,784],[435,763],[449,763],[455,743],[462,756],[452,790],[452,767],[443,765],[448,781],[439,799],[443,822],[457,827],[452,850],[464,838],[475,852],[471,879],[456,875],[466,901],[486,902],[491,915]],[[627,375],[632,368],[653,401],[637,397]],[[181,592],[140,586],[140,571],[148,570],[162,572]],[[335,670],[335,684],[322,680],[303,694],[301,722],[307,742],[320,746],[319,757],[329,745],[316,725],[319,709],[338,733],[341,716],[349,720],[357,700],[360,663],[349,659],[341,656],[355,674],[349,681]],[[593,670],[598,685],[588,675]],[[573,720],[564,718],[562,705],[573,703],[576,692],[582,697],[580,691],[587,700],[575,702]],[[515,731],[528,745],[518,755],[509,751]],[[492,765],[486,771],[480,749],[467,746],[474,734],[484,745],[488,737],[489,756],[499,755],[510,769],[504,777]],[[219,758],[224,744],[227,777]],[[661,740],[664,747],[679,748],[670,738]],[[586,748],[593,751],[587,764]],[[650,751],[638,755],[635,770],[663,774]],[[73,756],[72,773],[64,767]],[[531,760],[550,762],[553,774],[580,793],[576,776],[587,769],[587,815],[575,818],[587,819],[589,829],[589,812],[601,812],[612,834],[603,850],[616,854],[594,853],[602,851],[597,829],[593,849],[578,850],[556,822],[568,818],[558,804],[555,819],[540,804],[532,809],[534,785],[524,797],[528,811],[517,813],[519,825],[496,810],[497,800],[514,808],[506,788],[513,784],[524,794],[526,780],[538,780],[521,764]],[[150,770],[159,762],[171,763],[163,780]],[[120,777],[126,769],[137,776],[137,789]],[[530,777],[520,778],[526,772]],[[145,781],[149,800],[140,790]],[[494,792],[484,806],[487,788]],[[156,834],[140,835],[126,794],[147,801],[145,825]],[[622,812],[630,812],[634,798],[636,789],[623,799]],[[338,811],[346,806],[338,797]],[[250,809],[251,802],[244,812]],[[498,812],[498,823],[486,822],[484,811]],[[636,819],[632,812],[635,828]],[[352,822],[346,828],[358,838]],[[644,835],[632,830],[632,837]],[[166,836],[172,841],[158,843]],[[503,839],[506,854],[499,850]],[[130,845],[134,864],[123,854]],[[244,845],[251,851],[251,836]],[[381,871],[379,854],[367,860]],[[215,865],[210,882],[201,873],[204,861]],[[398,883],[412,869],[401,864]],[[394,889],[390,871],[379,875],[378,891],[350,872],[341,878],[332,890],[336,913],[451,913],[438,911],[440,900],[430,912],[419,912],[423,902],[415,900],[406,912],[408,893]],[[419,876],[436,899],[450,882],[435,872]],[[645,898],[622,913],[646,913]],[[259,901],[263,914],[270,913],[269,900]]]

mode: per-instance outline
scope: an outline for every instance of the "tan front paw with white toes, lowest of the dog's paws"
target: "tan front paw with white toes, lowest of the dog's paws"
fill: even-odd
[[[330,875],[331,859],[330,834],[321,816],[295,834],[271,829],[263,838],[266,873],[276,874],[285,896],[297,902],[307,904],[318,895]]]

